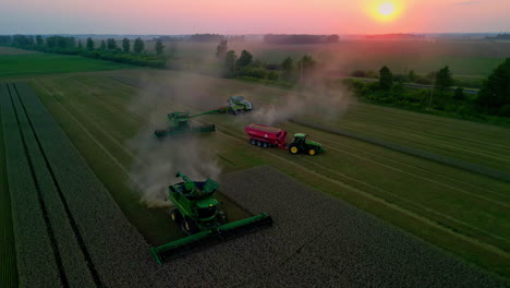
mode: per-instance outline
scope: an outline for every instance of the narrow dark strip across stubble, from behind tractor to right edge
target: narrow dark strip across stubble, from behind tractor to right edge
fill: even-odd
[[[396,144],[396,143],[390,143],[390,142],[387,142],[387,141],[360,135],[357,133],[348,132],[348,131],[343,131],[343,130],[340,130],[340,129],[333,129],[333,128],[329,128],[329,127],[326,127],[326,125],[323,125],[323,124],[312,123],[312,122],[308,122],[308,121],[302,121],[302,120],[293,119],[292,122],[301,124],[301,125],[314,128],[314,129],[317,129],[317,130],[339,134],[339,135],[342,135],[342,136],[348,136],[348,137],[361,140],[361,141],[364,141],[364,142],[368,142],[368,143],[372,143],[372,144],[375,144],[375,145],[382,146],[385,148],[393,149],[393,151],[397,151],[397,152],[402,152],[402,153],[405,153],[405,154],[409,154],[409,155],[412,155],[412,156],[417,156],[417,157],[421,157],[421,158],[424,158],[424,159],[434,160],[434,161],[441,163],[441,164],[445,164],[445,165],[448,165],[448,166],[461,168],[461,169],[472,171],[472,172],[475,172],[475,173],[488,176],[488,177],[491,177],[494,179],[510,182],[510,175],[509,173],[500,171],[500,170],[496,170],[496,169],[493,169],[493,168],[489,168],[489,167],[485,167],[485,166],[481,166],[481,165],[476,165],[476,164],[472,164],[472,163],[466,163],[466,161],[462,161],[462,160],[458,160],[458,159],[450,158],[450,157],[447,157],[447,156],[437,155],[437,154],[434,154],[434,153],[430,153],[430,152],[421,151],[421,149],[416,149],[416,148],[408,147],[408,146],[402,146],[402,145],[399,145],[399,144]]]

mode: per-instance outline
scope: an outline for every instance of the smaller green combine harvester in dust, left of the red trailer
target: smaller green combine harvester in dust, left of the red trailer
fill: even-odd
[[[208,113],[214,113],[214,112],[218,112],[218,109],[205,111],[203,113],[197,113],[197,115],[190,115],[190,112],[187,111],[169,113],[167,115],[168,120],[171,123],[173,123],[173,125],[168,127],[167,129],[155,130],[154,135],[159,139],[159,137],[165,137],[168,135],[177,135],[177,134],[183,134],[183,133],[192,133],[192,132],[204,133],[204,132],[216,131],[215,124],[199,125],[199,127],[191,125],[192,118],[208,115]]]

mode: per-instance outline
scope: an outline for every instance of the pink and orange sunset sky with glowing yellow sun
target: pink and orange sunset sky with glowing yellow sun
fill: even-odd
[[[510,32],[510,0],[1,0],[0,34]]]

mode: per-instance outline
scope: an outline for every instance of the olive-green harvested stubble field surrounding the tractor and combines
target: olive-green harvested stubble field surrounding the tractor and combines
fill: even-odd
[[[111,76],[137,77],[138,72],[112,72]],[[185,73],[151,71],[156,91],[208,95],[199,104],[169,100],[166,112],[217,107],[229,95],[243,94],[262,107],[288,91]],[[154,242],[172,239],[175,228],[158,209],[146,209],[126,185],[134,151],[125,142],[147,122],[151,107],[133,112],[130,107],[154,94],[101,75],[34,79],[45,105],[57,118],[96,175],[112,193],[130,220]],[[195,83],[195,85],[191,85]],[[198,86],[196,83],[201,83]],[[153,107],[154,108],[154,107]],[[402,145],[448,155],[508,171],[508,129],[356,104],[344,117],[321,120],[332,127]],[[304,118],[305,119],[305,118]],[[392,223],[464,260],[506,277],[510,276],[510,184],[435,161],[316,131],[295,123],[279,123],[290,133],[306,132],[324,143],[323,156],[292,156],[281,149],[260,149],[247,144],[243,127],[250,119],[211,115],[196,123],[216,123],[218,131],[201,137],[211,147],[223,172],[270,165]],[[159,128],[159,127],[158,127]],[[229,203],[228,203],[229,204]],[[229,205],[231,207],[235,205]],[[228,212],[242,215],[242,209]]]

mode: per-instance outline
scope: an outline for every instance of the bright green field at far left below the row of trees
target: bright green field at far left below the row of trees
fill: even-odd
[[[24,53],[3,55],[0,48],[0,77],[56,74],[84,71],[133,69],[132,65],[95,60],[80,56]],[[13,49],[17,50],[17,49]],[[23,50],[17,50],[23,51]]]

